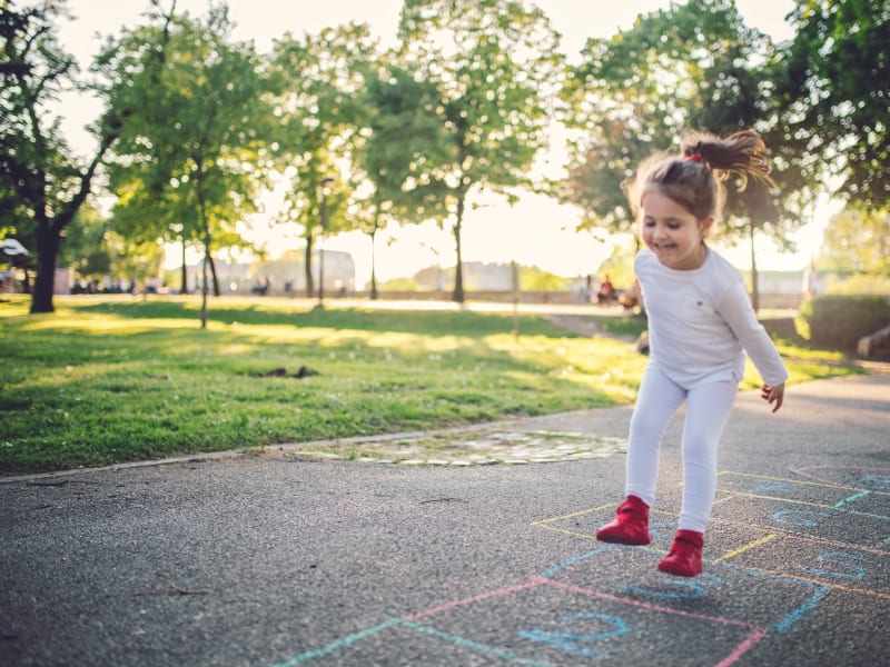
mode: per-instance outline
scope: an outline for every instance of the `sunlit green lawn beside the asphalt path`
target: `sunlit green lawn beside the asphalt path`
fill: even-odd
[[[516,338],[512,313],[466,310],[225,298],[201,330],[189,297],[28,306],[0,302],[0,474],[626,404],[645,365],[632,345],[538,316],[522,316]],[[317,375],[293,377],[301,366]],[[856,370],[790,367],[795,382]],[[288,376],[260,377],[276,368]]]

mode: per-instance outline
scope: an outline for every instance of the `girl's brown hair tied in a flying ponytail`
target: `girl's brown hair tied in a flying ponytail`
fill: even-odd
[[[733,172],[741,177],[740,190],[744,190],[749,178],[773,185],[767,147],[754,130],[725,139],[709,132],[686,132],[680,141],[679,157],[661,153],[645,160],[636,177],[625,181],[624,189],[634,217],[646,189],[655,187],[696,220],[703,220],[718,217],[723,210],[724,182]]]

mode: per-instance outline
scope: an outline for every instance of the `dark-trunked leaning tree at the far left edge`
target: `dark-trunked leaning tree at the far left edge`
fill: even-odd
[[[52,312],[52,288],[65,229],[87,201],[97,170],[130,113],[107,110],[90,131],[98,147],[80,160],[66,143],[51,103],[81,87],[75,59],[58,43],[52,20],[65,17],[52,1],[0,11],[0,212],[19,236],[32,237],[37,277],[31,312]]]

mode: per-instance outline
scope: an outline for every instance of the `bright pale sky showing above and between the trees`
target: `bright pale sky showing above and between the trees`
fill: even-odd
[[[167,0],[165,4],[169,4]],[[22,4],[31,2],[20,0]],[[630,28],[641,12],[669,4],[669,0],[538,0],[537,4],[563,34],[563,51],[575,58],[587,38],[610,37],[619,28]],[[101,46],[103,38],[115,34],[121,26],[134,27],[144,21],[141,14],[148,0],[69,0],[75,21],[61,30],[66,47],[76,53],[83,68]],[[266,51],[276,38],[290,31],[295,36],[317,32],[322,28],[356,20],[370,26],[374,34],[384,42],[395,39],[402,0],[228,0],[230,17],[237,23],[235,38],[254,40],[260,51]],[[782,40],[792,36],[784,17],[793,8],[793,0],[736,0],[749,24]],[[192,14],[204,14],[207,0],[177,0],[177,8]],[[66,103],[70,122],[66,131],[95,119],[98,109],[81,102],[76,111]],[[558,156],[557,156],[558,161]],[[572,207],[561,207],[536,196],[526,196],[522,202],[510,207],[488,198],[481,208],[468,208],[462,237],[465,261],[508,262],[537,266],[562,276],[582,276],[596,270],[610,255],[611,245],[594,240],[589,233],[573,231],[578,212]],[[799,235],[795,256],[778,255],[771,248],[759,249],[758,263],[762,269],[798,269],[809,262],[821,241],[821,229],[829,215],[822,206],[814,222]],[[257,233],[268,238],[271,255],[300,248],[294,230],[279,229],[269,233],[266,220],[257,220]],[[625,240],[626,241],[626,240]],[[356,262],[356,282],[362,285],[370,272],[370,246],[364,235],[342,235],[325,242],[328,249],[346,250]],[[724,252],[739,268],[750,266],[749,250],[741,247]],[[407,276],[434,265],[453,266],[454,240],[451,231],[435,226],[409,226],[388,235],[378,235],[377,276],[386,280]]]

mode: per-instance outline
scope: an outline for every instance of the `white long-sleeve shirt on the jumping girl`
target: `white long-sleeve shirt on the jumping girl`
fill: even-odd
[[[708,248],[701,267],[674,270],[649,248],[634,270],[649,313],[650,364],[681,387],[723,379],[741,380],[745,352],[763,382],[788,379],[782,358],[758,321],[742,275]]]

